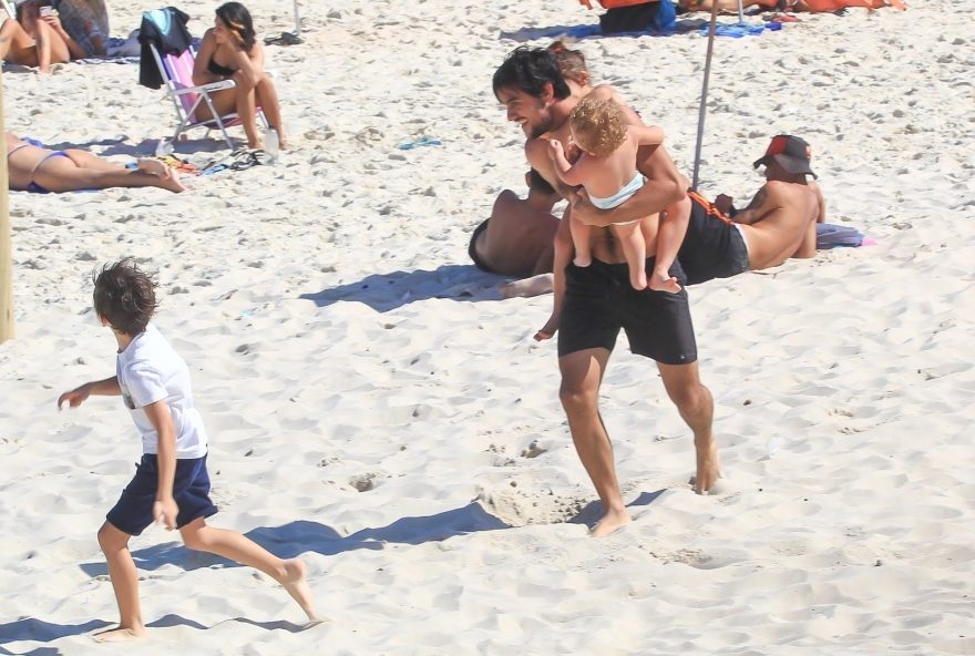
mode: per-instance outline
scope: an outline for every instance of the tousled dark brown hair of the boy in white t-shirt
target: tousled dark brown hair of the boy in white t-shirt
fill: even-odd
[[[156,284],[131,258],[106,264],[92,273],[95,312],[125,335],[135,337],[145,330],[156,311]]]

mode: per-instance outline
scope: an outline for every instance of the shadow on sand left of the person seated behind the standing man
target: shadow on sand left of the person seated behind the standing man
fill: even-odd
[[[449,298],[459,301],[501,300],[497,284],[506,278],[485,274],[473,265],[444,265],[435,270],[372,274],[299,298],[327,307],[340,300],[358,301],[378,312],[388,312],[417,300]]]

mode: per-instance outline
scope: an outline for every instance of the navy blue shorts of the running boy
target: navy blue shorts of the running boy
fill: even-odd
[[[156,457],[144,453],[142,462],[135,467],[135,476],[122,491],[122,496],[105,519],[123,533],[141,534],[155,519],[152,516],[152,506],[156,501],[158,484],[160,468]],[[209,500],[206,455],[176,461],[173,498],[179,509],[176,515],[177,529],[182,529],[193,520],[208,517],[217,512],[217,506]]]

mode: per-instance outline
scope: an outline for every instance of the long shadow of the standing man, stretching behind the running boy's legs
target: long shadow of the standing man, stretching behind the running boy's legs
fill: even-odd
[[[509,529],[480,504],[471,502],[463,508],[449,510],[435,515],[403,517],[379,529],[362,529],[342,537],[329,526],[318,522],[298,520],[284,526],[259,526],[246,533],[247,537],[281,558],[292,558],[305,552],[326,556],[357,549],[382,549],[386,543],[423,544],[441,542],[454,535],[479,531]],[[213,554],[186,549],[178,542],[157,544],[132,552],[135,565],[141,571],[151,572],[164,565],[175,565],[184,571],[213,567],[236,567],[237,563]],[[89,576],[105,576],[109,571],[104,562],[82,563],[81,570]]]

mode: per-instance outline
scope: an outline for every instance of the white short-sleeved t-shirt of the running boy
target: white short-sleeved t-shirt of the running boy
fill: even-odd
[[[115,359],[122,400],[142,433],[143,453],[158,453],[158,434],[144,407],[165,401],[176,430],[176,458],[206,455],[206,429],[193,407],[189,369],[166,338],[148,324]]]

